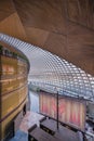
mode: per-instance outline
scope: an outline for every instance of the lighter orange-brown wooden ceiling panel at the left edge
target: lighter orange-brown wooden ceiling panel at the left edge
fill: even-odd
[[[24,27],[16,12],[0,22],[0,33],[26,40]]]

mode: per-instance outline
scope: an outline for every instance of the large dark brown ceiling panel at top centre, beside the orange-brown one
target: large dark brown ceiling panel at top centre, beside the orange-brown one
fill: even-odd
[[[24,26],[65,33],[66,24],[58,0],[14,0]]]

